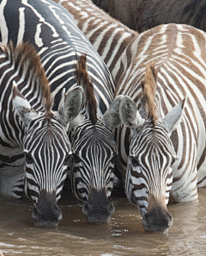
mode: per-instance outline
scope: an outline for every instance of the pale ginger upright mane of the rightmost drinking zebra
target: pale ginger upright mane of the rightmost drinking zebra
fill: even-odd
[[[157,71],[154,65],[146,66],[144,80],[142,80],[142,103],[148,117],[152,119],[154,127],[157,122],[156,106],[154,103],[156,93]]]

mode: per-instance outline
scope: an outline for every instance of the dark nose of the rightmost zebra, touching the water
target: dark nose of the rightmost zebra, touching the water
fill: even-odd
[[[167,209],[150,209],[143,215],[145,231],[164,232],[173,225],[173,216]]]

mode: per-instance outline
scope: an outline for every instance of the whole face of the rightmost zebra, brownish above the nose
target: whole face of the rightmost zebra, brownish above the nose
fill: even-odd
[[[145,122],[142,130],[132,131],[130,140],[127,197],[140,210],[145,229],[152,231],[144,220],[150,210],[152,215],[161,215],[161,221],[157,216],[155,218],[168,228],[167,224],[172,222],[172,216],[167,212],[167,203],[173,184],[173,163],[176,159],[173,143],[161,122],[157,122],[155,128]],[[153,231],[162,230],[160,228]]]

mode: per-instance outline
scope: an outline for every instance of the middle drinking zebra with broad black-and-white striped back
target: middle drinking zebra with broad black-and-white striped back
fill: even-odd
[[[53,110],[58,110],[63,89],[65,88],[67,93],[71,88],[76,87],[78,77],[76,65],[82,54],[87,55],[85,69],[89,81],[94,84],[98,122],[92,123],[87,111],[84,111],[85,108],[82,108],[80,116],[70,122],[69,135],[74,147],[71,162],[75,169],[75,174],[72,174],[71,178],[73,180],[72,190],[77,199],[84,203],[83,212],[86,213],[88,222],[108,222],[114,211],[109,197],[112,193],[113,161],[117,154],[112,130],[120,122],[118,116],[111,115],[111,113],[117,112],[114,110],[118,108],[121,98],[119,97],[112,103],[115,86],[111,73],[100,59],[99,54],[94,51],[94,47],[86,36],[76,27],[68,12],[58,3],[51,0],[2,0],[0,1],[0,12],[0,41],[3,45],[7,45],[10,40],[13,41],[14,46],[21,41],[29,41],[39,54],[51,87],[51,96],[54,97]],[[87,127],[91,128],[90,134],[86,133]],[[78,134],[83,137],[80,138]],[[102,138],[101,134],[110,135]],[[102,156],[101,159],[104,158],[102,162],[100,162],[100,158],[94,156],[93,148],[88,147],[89,141],[93,137],[100,146],[99,153]],[[102,140],[103,142],[101,142]],[[26,165],[30,167],[26,168],[25,172],[25,191],[28,196],[33,195],[35,208],[38,205],[40,207],[41,202],[44,202],[39,194],[41,186],[36,182],[37,173],[31,168],[31,159],[28,157],[26,157]],[[52,165],[56,165],[56,163],[52,162]],[[73,170],[70,172],[73,173]],[[63,174],[61,173],[61,175]],[[48,173],[44,173],[43,170],[39,173],[40,178],[44,178],[46,175]],[[99,182],[100,186],[96,187]],[[16,185],[14,190],[17,197],[17,191],[21,190],[20,184]],[[61,191],[62,187],[54,191],[55,200],[58,201]],[[44,197],[49,197],[47,190],[45,190]],[[43,208],[46,210],[46,203]]]

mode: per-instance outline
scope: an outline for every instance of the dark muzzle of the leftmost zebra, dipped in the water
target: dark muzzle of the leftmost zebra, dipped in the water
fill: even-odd
[[[62,220],[62,211],[58,207],[56,193],[48,193],[45,190],[39,194],[39,203],[33,209],[33,224],[38,228],[58,227]]]

